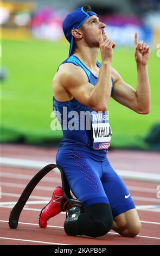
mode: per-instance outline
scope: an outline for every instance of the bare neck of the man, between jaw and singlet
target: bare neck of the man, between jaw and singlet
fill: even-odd
[[[97,68],[98,48],[85,47],[81,49],[81,51],[76,49],[74,55],[78,57],[89,70],[95,70]]]

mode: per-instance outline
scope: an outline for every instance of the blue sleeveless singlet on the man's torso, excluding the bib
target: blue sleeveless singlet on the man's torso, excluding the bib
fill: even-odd
[[[80,61],[78,57],[71,56],[67,58],[64,62],[62,62],[60,65],[64,63],[73,63],[76,66],[80,66],[85,71],[88,77],[88,82],[93,84],[93,86],[95,86],[95,84],[98,81],[98,77],[94,76],[92,72],[86,68],[86,66]],[[97,66],[100,68],[100,63],[98,61],[97,61]],[[112,90],[113,90],[113,78],[112,78]],[[112,93],[112,90],[111,90],[111,93]],[[65,112],[64,112],[64,109],[65,109]],[[69,101],[60,102],[60,101],[57,101],[53,96],[53,111],[59,112],[61,116],[60,123],[63,131],[63,139],[60,143],[60,146],[67,145],[67,144],[71,146],[71,143],[72,143],[72,144],[80,145],[81,147],[93,149],[92,148],[92,145],[93,145],[92,126],[91,126],[91,130],[86,130],[86,120],[84,121],[84,123],[81,122],[80,124],[80,112],[81,111],[92,112],[93,109],[82,105],[80,102],[78,102],[74,98]],[[68,123],[73,118],[73,116],[68,117],[68,113],[69,112],[72,113],[71,111],[76,111],[78,113],[78,122],[77,122],[78,127],[75,127],[75,130],[72,130],[72,131],[68,129]],[[74,120],[76,120],[76,117],[74,117]],[[63,127],[65,127],[65,129],[63,129]],[[83,129],[80,129],[80,127],[83,127]],[[107,149],[102,149],[97,151],[99,151],[99,153],[100,152],[106,153]]]

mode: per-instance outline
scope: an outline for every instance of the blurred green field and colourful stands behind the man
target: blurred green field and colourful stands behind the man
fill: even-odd
[[[106,23],[106,33],[117,45],[112,65],[133,87],[137,84],[135,32],[151,47],[151,112],[138,115],[111,99],[112,148],[160,150],[159,0],[1,2],[1,143],[54,145],[62,138],[61,131],[50,129],[52,79],[68,57],[62,21],[84,4]]]

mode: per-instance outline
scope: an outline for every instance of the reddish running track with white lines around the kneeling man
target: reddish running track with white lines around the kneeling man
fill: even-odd
[[[55,163],[56,149],[3,144],[1,155]],[[160,174],[159,155],[153,152],[110,150],[108,159],[113,168],[144,172],[144,175]],[[67,236],[63,230],[64,213],[52,218],[46,229],[41,229],[38,225],[40,210],[49,202],[54,188],[61,185],[60,173],[55,172],[47,174],[36,186],[21,213],[18,228],[10,229],[10,210],[37,171],[1,168],[1,245],[160,245],[160,199],[157,198],[159,184],[152,182],[124,180],[142,222],[142,230],[135,238],[122,237],[113,230],[96,239],[87,236]]]

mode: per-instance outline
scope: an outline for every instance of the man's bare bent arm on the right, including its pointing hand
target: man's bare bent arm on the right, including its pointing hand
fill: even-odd
[[[114,86],[112,97],[122,105],[131,108],[139,114],[150,112],[150,83],[148,76],[149,46],[143,41],[138,42],[137,33],[135,34],[135,59],[137,63],[137,88],[133,89],[124,82],[118,72],[112,68]]]

